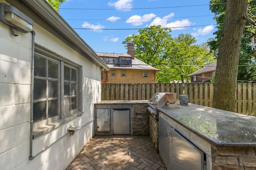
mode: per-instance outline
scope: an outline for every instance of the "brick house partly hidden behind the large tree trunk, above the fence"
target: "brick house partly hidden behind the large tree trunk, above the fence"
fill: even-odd
[[[190,76],[191,82],[210,82],[210,78],[213,78],[215,75],[216,64],[217,62],[210,63],[208,66],[189,74],[188,76]]]

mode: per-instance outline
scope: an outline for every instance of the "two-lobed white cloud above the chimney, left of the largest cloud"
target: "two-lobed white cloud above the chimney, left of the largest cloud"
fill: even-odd
[[[152,18],[155,18],[155,17],[156,15],[152,13],[145,14],[144,16],[134,15],[128,18],[128,20],[126,20],[125,22],[131,23],[133,26],[138,26],[138,25],[142,25],[144,22],[150,21]]]

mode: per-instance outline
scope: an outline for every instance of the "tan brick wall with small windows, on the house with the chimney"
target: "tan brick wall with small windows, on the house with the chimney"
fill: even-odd
[[[111,77],[111,70],[116,70],[116,76]],[[156,83],[155,70],[134,70],[112,68],[107,72],[106,83]],[[121,70],[126,70],[126,77],[121,77]],[[143,77],[143,71],[148,72],[148,77]]]

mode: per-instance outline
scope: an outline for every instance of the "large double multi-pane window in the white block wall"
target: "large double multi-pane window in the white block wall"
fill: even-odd
[[[33,129],[82,110],[81,72],[82,67],[71,61],[36,52]]]

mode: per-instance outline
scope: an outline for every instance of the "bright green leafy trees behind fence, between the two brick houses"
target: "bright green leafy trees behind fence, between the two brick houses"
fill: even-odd
[[[172,38],[170,32],[171,29],[152,25],[139,29],[138,34],[123,41],[123,44],[134,43],[137,59],[162,70],[156,73],[157,82],[190,80],[186,75],[202,68],[195,65],[207,65],[214,61],[206,43],[196,45],[196,39],[190,34]]]

